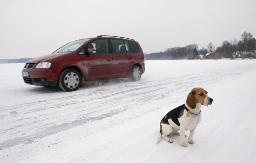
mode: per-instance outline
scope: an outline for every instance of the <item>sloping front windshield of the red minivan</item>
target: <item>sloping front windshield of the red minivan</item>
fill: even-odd
[[[90,39],[82,39],[82,40],[72,41],[72,42],[62,46],[60,49],[54,51],[53,53],[76,51],[78,48],[80,48],[88,40],[90,40]]]

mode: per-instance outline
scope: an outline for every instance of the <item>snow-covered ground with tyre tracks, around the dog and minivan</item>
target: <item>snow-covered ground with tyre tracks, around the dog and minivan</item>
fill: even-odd
[[[146,61],[139,82],[75,92],[25,84],[23,66],[0,64],[1,163],[256,161],[256,60]],[[155,144],[160,120],[194,87],[214,99],[195,144],[181,147],[176,135]]]

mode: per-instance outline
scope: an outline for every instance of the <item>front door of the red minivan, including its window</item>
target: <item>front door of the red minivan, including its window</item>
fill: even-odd
[[[90,51],[89,53],[88,50]],[[98,39],[85,46],[85,79],[100,80],[113,77],[113,60],[108,39]],[[93,52],[92,52],[93,51]]]

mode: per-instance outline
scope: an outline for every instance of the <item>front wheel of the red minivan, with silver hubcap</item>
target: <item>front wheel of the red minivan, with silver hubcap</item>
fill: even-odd
[[[70,92],[77,90],[81,81],[81,74],[78,71],[75,69],[66,69],[61,72],[58,84],[60,89]]]

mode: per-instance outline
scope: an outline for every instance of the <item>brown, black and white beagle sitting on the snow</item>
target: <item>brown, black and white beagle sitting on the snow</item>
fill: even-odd
[[[190,130],[188,143],[194,144],[193,135],[197,124],[201,121],[201,105],[208,106],[213,101],[207,93],[203,88],[193,88],[188,94],[185,104],[167,113],[160,122],[160,133],[156,143],[159,143],[161,138],[172,143],[172,139],[167,136],[175,134],[180,136],[180,145],[186,147],[185,130]]]

